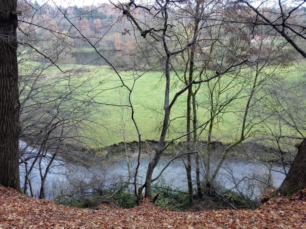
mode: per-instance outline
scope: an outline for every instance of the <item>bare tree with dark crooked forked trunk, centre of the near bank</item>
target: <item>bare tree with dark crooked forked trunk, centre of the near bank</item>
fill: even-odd
[[[218,76],[233,71],[233,68],[244,63],[246,60],[241,60],[240,62],[238,60],[234,60],[232,64],[229,65],[228,68],[223,69],[223,71],[218,72],[215,75],[212,75],[210,78],[202,79],[202,80],[192,80],[191,82],[188,82],[187,85],[185,85],[180,91],[178,91],[173,99],[170,101],[169,95],[170,95],[170,60],[173,56],[184,52],[189,46],[191,46],[197,39],[200,31],[203,29],[206,20],[215,12],[216,10],[210,11],[209,13],[205,13],[202,15],[201,23],[197,29],[192,35],[192,37],[185,43],[185,45],[182,45],[183,48],[177,47],[177,41],[176,39],[171,38],[169,33],[172,33],[174,30],[174,27],[169,24],[169,21],[173,16],[177,16],[177,14],[173,13],[171,9],[174,9],[176,2],[157,2],[156,5],[137,5],[134,1],[131,1],[125,5],[115,5],[118,9],[121,9],[125,15],[128,16],[128,18],[132,21],[132,23],[135,25],[136,29],[140,31],[140,34],[142,37],[146,38],[147,36],[153,37],[155,40],[159,41],[163,46],[162,55],[164,57],[164,63],[165,63],[165,78],[166,78],[166,88],[165,88],[165,100],[164,100],[164,118],[163,118],[163,125],[161,129],[161,134],[159,138],[159,144],[155,152],[154,158],[151,160],[151,162],[148,165],[147,169],[147,176],[145,184],[142,185],[142,187],[139,188],[139,193],[141,193],[142,189],[145,187],[145,197],[151,197],[151,184],[152,180],[155,180],[155,178],[152,178],[152,173],[156,167],[156,165],[159,162],[159,159],[162,155],[162,152],[165,150],[165,147],[163,147],[163,144],[165,143],[166,133],[168,129],[169,124],[169,118],[170,118],[170,111],[172,106],[174,105],[175,101],[177,100],[177,97],[180,96],[182,93],[187,91],[192,85],[199,84],[202,82],[208,82],[213,78],[217,78]],[[210,5],[211,4],[211,5]],[[217,2],[214,3],[207,3],[204,4],[205,7],[215,7],[218,9],[218,7],[221,7],[218,5]],[[133,9],[132,9],[133,8]],[[148,15],[153,16],[154,20],[159,20],[160,24],[162,26],[160,27],[149,27],[147,24],[140,24],[138,19],[132,14],[132,10],[134,9],[140,9],[147,12]],[[157,14],[155,13],[157,12]],[[157,16],[159,15],[159,16]],[[142,27],[145,27],[144,29]],[[239,59],[239,58],[238,58]],[[190,133],[187,133],[188,135]],[[167,147],[167,146],[166,146]]]

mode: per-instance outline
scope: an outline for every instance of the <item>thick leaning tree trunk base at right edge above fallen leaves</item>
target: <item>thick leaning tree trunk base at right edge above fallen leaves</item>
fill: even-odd
[[[291,196],[306,187],[306,139],[299,145],[289,172],[277,192]]]

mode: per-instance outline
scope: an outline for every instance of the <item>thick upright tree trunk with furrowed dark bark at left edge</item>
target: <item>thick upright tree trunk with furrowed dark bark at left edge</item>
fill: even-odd
[[[20,191],[16,7],[0,1],[0,184]]]

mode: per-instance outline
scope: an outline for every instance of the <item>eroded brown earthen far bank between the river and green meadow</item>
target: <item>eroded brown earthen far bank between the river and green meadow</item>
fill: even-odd
[[[164,146],[168,144],[167,142]],[[206,147],[208,144],[206,142],[200,142],[202,145],[201,150],[198,152],[199,155],[204,155],[206,152]],[[220,141],[209,144],[211,150],[213,151],[216,158],[221,158],[222,153],[230,145],[230,143],[223,143]],[[143,140],[141,142],[141,154],[142,155],[151,155],[154,156],[158,142],[155,140]],[[186,142],[184,141],[175,141],[171,143],[167,149],[163,152],[163,155],[174,156],[177,155],[177,152],[184,151],[184,148],[187,147]],[[137,141],[133,142],[119,142],[106,147],[101,147],[99,149],[91,150],[86,152],[86,148],[80,148],[82,158],[85,155],[92,154],[93,152],[99,156],[100,159],[112,159],[121,157],[123,154],[127,153],[128,157],[136,158],[139,152],[139,145]],[[85,155],[83,155],[85,153]],[[71,157],[71,155],[68,155]],[[267,146],[264,144],[256,144],[253,142],[245,142],[241,145],[233,147],[228,154],[228,158],[231,160],[248,160],[252,161],[262,161],[262,162],[278,162],[279,160],[279,150]],[[286,162],[287,165],[288,162]]]

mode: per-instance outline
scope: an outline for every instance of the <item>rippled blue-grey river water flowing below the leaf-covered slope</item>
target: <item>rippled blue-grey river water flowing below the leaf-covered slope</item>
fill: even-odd
[[[23,141],[20,141],[20,147],[23,148],[26,145]],[[36,149],[28,147],[27,152],[35,153]],[[50,154],[47,154],[48,157],[42,159],[42,170],[45,172],[45,168],[47,164],[50,162]],[[138,171],[138,183],[143,184],[147,172],[147,165],[151,161],[151,155],[142,155],[141,156],[141,165]],[[165,165],[168,164],[171,157],[162,156],[159,164],[154,170],[153,177],[160,173],[160,171],[164,168]],[[186,159],[186,158],[183,158]],[[137,158],[131,157],[129,159],[131,171],[134,173],[137,165]],[[30,164],[30,163],[29,163]],[[192,160],[192,167],[195,166],[194,160]],[[200,165],[201,167],[201,165]],[[211,165],[212,169],[214,169],[214,165]],[[203,169],[200,169],[203,171]],[[275,187],[279,187],[282,184],[282,181],[285,178],[285,175],[281,173],[282,168],[273,167],[271,171],[272,180]],[[278,172],[279,171],[279,172]],[[21,187],[24,187],[24,173],[25,167],[24,164],[20,165],[20,178],[21,178]],[[257,180],[265,180],[266,174],[268,170],[265,165],[259,162],[249,162],[242,160],[229,160],[223,163],[222,169],[220,169],[217,182],[227,189],[232,189],[238,184],[238,188],[242,192],[250,192],[254,191],[254,196],[259,194],[259,182]],[[201,174],[203,175],[203,174]],[[114,182],[121,182],[127,180],[128,169],[125,157],[118,156],[111,161],[106,160],[105,163],[101,167],[96,166],[88,166],[82,165],[80,163],[72,163],[64,161],[61,157],[56,158],[52,163],[51,169],[47,174],[47,179],[45,182],[45,190],[46,190],[46,199],[53,199],[54,196],[58,194],[59,190],[64,189],[69,180],[84,180],[84,182],[90,182],[95,178],[103,183],[105,188],[109,187],[110,184]],[[192,171],[192,176],[195,178],[195,171]],[[99,178],[99,179],[97,179]],[[257,180],[254,180],[256,178]],[[36,163],[35,167],[32,170],[30,175],[32,189],[34,194],[38,196],[40,186],[41,186],[41,178],[38,168],[38,163]],[[167,186],[171,188],[180,188],[187,190],[187,179],[186,179],[186,169],[182,159],[177,159],[172,162],[164,171],[163,175],[157,183],[157,186]]]

